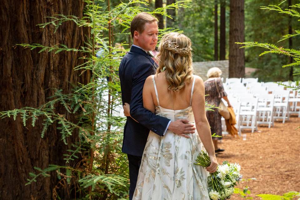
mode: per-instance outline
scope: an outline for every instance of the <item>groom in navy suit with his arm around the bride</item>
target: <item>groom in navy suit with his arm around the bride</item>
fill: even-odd
[[[158,21],[152,15],[141,12],[133,18],[130,32],[133,45],[120,63],[119,77],[125,111],[127,103],[130,103],[131,117],[127,117],[125,123],[122,152],[128,156],[131,200],[149,130],[159,136],[170,130],[189,138],[184,133],[195,133],[195,128],[192,124],[185,124],[187,120],[171,122],[143,107],[143,86],[146,78],[154,74],[156,66],[148,52],[155,49],[158,41]]]

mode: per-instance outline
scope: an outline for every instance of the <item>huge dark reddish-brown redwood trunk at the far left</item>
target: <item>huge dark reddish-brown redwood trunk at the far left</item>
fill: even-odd
[[[24,49],[16,44],[39,43],[53,46],[61,43],[68,47],[83,46],[83,38],[89,30],[79,28],[73,22],[65,22],[54,34],[54,27],[44,29],[36,26],[47,22],[48,16],[55,14],[75,15],[83,17],[83,1],[67,3],[62,0],[19,1],[17,4],[2,0],[0,7],[0,23],[5,25],[0,30],[0,111],[22,107],[39,107],[54,94],[53,88],[63,89],[70,93],[72,84],[88,83],[89,72],[79,76],[80,71],[73,68],[82,60],[76,52],[38,53],[39,49]],[[57,112],[66,114],[64,108],[58,107]],[[33,167],[46,168],[49,164],[66,165],[63,154],[70,144],[78,140],[78,133],[67,138],[68,145],[61,141],[57,124],[50,126],[41,138],[42,120],[31,126],[22,125],[20,117],[0,119],[0,198],[15,199],[51,199],[52,190],[58,183],[54,173],[51,177],[38,178],[37,182],[25,186],[28,173],[36,171]],[[73,165],[75,163],[70,163]],[[62,199],[73,198],[67,190],[60,186],[58,194]]]

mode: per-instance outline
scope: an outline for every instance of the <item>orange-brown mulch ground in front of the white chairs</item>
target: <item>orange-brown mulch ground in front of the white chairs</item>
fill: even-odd
[[[237,185],[241,189],[248,186],[253,199],[260,199],[255,194],[300,192],[300,129],[295,130],[299,126],[300,118],[292,116],[284,124],[275,121],[273,128],[260,126],[254,133],[242,131],[247,140],[224,135],[220,148],[225,151],[217,154],[217,160],[239,163],[243,178],[256,179]],[[242,197],[233,194],[231,199]]]

